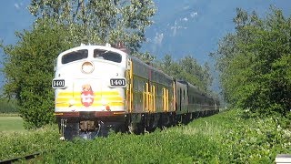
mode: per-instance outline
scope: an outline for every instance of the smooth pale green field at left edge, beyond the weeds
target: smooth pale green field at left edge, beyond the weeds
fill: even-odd
[[[0,117],[0,131],[25,131],[24,120],[20,117]]]

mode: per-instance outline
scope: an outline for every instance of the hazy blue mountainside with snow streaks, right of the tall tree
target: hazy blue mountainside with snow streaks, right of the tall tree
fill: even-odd
[[[146,31],[145,49],[157,56],[170,54],[194,56],[201,64],[217,48],[219,39],[234,32],[236,7],[260,16],[270,12],[270,5],[291,12],[288,0],[156,0],[155,24]]]

